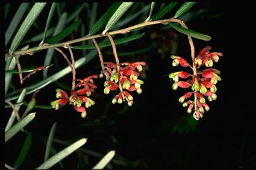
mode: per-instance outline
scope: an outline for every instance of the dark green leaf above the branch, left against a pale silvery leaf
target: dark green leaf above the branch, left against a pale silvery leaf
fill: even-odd
[[[121,5],[121,3],[113,3],[111,7],[101,16],[101,18],[93,25],[89,35],[94,35],[99,31],[106,23],[109,21],[109,18],[113,15],[114,11]]]

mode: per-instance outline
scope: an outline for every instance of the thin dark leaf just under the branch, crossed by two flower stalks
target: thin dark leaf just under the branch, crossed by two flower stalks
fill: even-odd
[[[122,39],[116,39],[115,44],[117,45],[117,44],[123,44],[125,42],[134,41],[136,39],[141,38],[144,34],[145,33],[141,33],[139,35],[132,35],[130,37],[125,37],[125,38],[122,38]],[[111,46],[111,42],[109,42],[109,41],[99,42],[98,45],[99,45],[99,47]],[[94,46],[94,44],[87,44],[87,45],[84,45],[84,46],[71,46],[71,48],[82,50],[82,49],[93,49],[93,48],[95,48],[95,46]]]

